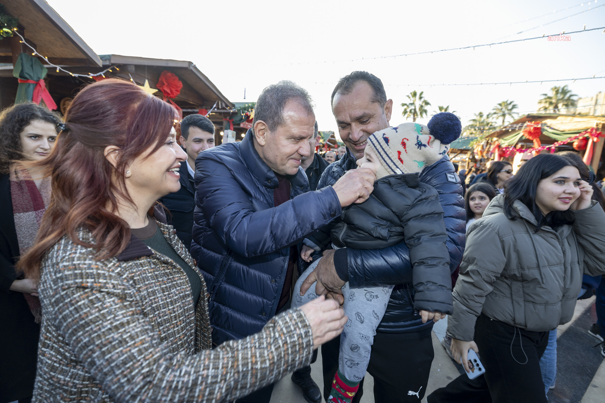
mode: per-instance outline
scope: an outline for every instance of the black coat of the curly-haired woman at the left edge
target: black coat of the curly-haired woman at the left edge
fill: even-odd
[[[40,326],[21,292],[10,291],[17,279],[19,243],[13,218],[8,174],[0,175],[0,402],[31,396],[36,378]]]

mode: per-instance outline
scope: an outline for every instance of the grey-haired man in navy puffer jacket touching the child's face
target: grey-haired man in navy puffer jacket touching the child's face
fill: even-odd
[[[195,160],[191,255],[208,286],[214,344],[255,334],[287,309],[299,242],[373,190],[376,177],[360,169],[309,192],[300,164],[310,155],[314,126],[307,92],[280,82],[259,96],[253,130],[241,143],[214,147]],[[238,402],[268,403],[272,389]]]

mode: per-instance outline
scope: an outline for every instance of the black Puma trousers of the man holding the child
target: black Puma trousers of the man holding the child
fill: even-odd
[[[374,401],[419,402],[427,390],[428,375],[433,362],[431,335],[405,338],[410,334],[376,333],[370,355],[368,372],[374,377]],[[338,370],[340,337],[321,346],[324,370],[324,397],[330,395],[332,379]],[[353,398],[354,403],[364,395],[364,381]],[[413,392],[414,394],[408,394]],[[418,393],[416,396],[415,393]],[[420,399],[420,400],[419,400]]]

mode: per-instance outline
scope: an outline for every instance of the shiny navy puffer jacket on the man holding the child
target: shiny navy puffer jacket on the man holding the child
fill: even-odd
[[[335,184],[347,170],[356,167],[355,158],[347,149],[344,158],[325,169],[318,189]],[[465,245],[466,212],[459,181],[448,156],[420,173],[420,182],[431,185],[439,193],[439,202],[444,212],[443,222],[448,234],[446,245],[450,252],[450,272],[460,264]],[[352,287],[395,285],[378,332],[415,333],[410,337],[430,334],[433,321],[422,323],[420,315],[414,310],[412,265],[405,242],[380,250],[347,248],[347,263],[348,282]]]

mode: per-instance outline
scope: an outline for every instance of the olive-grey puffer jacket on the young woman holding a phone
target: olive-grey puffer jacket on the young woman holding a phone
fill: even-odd
[[[467,232],[448,318],[458,340],[473,340],[481,313],[534,332],[555,329],[572,319],[582,275],[605,274],[605,212],[597,202],[575,211],[573,225],[537,233],[528,207],[515,201],[510,220],[503,204],[504,195],[492,199]]]

